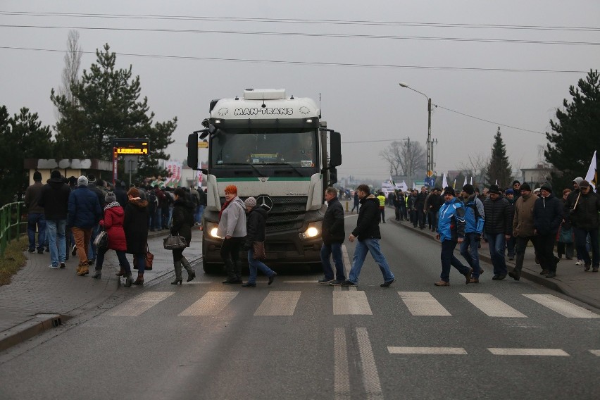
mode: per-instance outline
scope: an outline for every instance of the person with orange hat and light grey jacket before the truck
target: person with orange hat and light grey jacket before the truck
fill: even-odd
[[[225,263],[227,279],[223,285],[241,284],[242,261],[239,259],[239,250],[246,237],[246,206],[237,196],[235,185],[225,187],[225,204],[219,213],[217,234],[224,238],[220,256]]]

